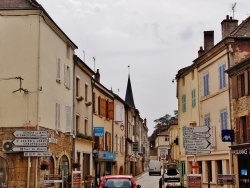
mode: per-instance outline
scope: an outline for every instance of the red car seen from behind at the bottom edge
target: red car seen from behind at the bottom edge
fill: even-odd
[[[136,185],[135,178],[131,175],[106,175],[99,188],[141,188],[141,185]]]

